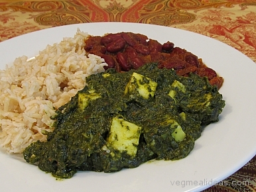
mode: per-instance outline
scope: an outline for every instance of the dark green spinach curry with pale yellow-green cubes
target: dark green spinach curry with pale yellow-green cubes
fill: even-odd
[[[54,177],[185,158],[202,125],[217,122],[225,106],[207,77],[181,77],[157,64],[124,73],[109,69],[86,82],[57,110],[47,141],[24,151],[27,162]]]

